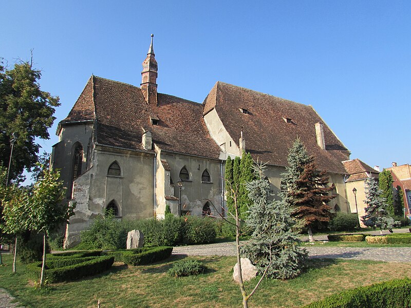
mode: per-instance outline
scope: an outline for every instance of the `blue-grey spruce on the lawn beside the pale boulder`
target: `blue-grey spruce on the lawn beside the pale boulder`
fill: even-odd
[[[242,254],[268,278],[294,278],[301,273],[307,252],[297,246],[290,208],[284,201],[270,200],[270,184],[261,177],[263,165],[255,170],[258,179],[246,183],[252,201],[246,222],[253,233]]]

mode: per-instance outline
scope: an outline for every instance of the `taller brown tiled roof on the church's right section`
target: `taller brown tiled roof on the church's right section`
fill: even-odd
[[[311,106],[222,82],[215,84],[203,106],[203,114],[215,108],[237,146],[242,127],[246,150],[255,160],[287,165],[288,149],[300,137],[319,169],[346,173],[341,162],[347,160],[349,151]],[[287,118],[291,123],[284,120]],[[325,150],[316,142],[317,122],[324,124]]]

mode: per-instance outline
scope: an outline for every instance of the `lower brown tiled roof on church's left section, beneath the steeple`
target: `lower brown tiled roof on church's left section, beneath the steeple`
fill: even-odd
[[[201,104],[160,93],[158,106],[149,105],[139,87],[91,76],[61,123],[96,119],[99,144],[134,150],[143,149],[143,130],[150,130],[160,149],[218,158],[219,147],[208,133],[202,110]],[[150,118],[158,119],[159,125],[152,125]]]

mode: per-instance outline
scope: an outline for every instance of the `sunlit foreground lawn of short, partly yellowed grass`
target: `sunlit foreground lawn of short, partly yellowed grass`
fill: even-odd
[[[24,264],[12,273],[12,258],[4,256],[0,287],[26,307],[239,307],[241,295],[232,279],[234,257],[190,257],[209,270],[198,276],[172,278],[167,270],[182,257],[144,266],[115,263],[92,278],[56,283],[39,290],[27,281]],[[395,278],[411,277],[411,263],[310,260],[298,278],[265,280],[250,300],[252,307],[298,307],[349,288]],[[256,279],[247,284],[250,291]]]

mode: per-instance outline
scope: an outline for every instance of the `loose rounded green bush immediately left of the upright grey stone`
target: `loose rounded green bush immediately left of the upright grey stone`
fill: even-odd
[[[126,237],[124,228],[113,213],[107,213],[105,216],[98,215],[80,233],[81,241],[94,249],[125,248]]]

